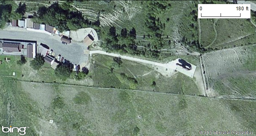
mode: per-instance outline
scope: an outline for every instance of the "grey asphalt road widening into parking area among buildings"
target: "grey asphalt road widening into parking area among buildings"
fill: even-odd
[[[59,36],[50,36],[20,28],[6,28],[0,31],[0,39],[35,40],[38,45],[44,43],[53,50],[55,56],[61,54],[62,57],[73,64],[86,63],[88,58],[88,55],[84,54],[86,47],[83,43],[72,42],[72,44],[64,45],[61,43]]]

